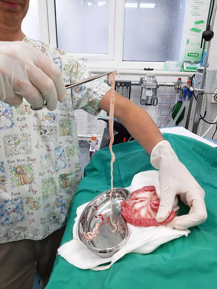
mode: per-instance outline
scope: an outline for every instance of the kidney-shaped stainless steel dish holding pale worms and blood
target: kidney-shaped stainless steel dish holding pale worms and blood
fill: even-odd
[[[122,248],[129,238],[129,231],[125,220],[121,216],[122,201],[129,197],[129,191],[124,188],[114,188],[112,194],[112,215],[110,205],[110,192],[108,190],[93,199],[83,210],[79,219],[78,236],[85,246],[99,254],[101,257],[109,258]],[[117,231],[112,232],[113,223],[117,225]],[[96,224],[99,224],[99,233],[92,240],[85,238],[83,233],[93,232]]]

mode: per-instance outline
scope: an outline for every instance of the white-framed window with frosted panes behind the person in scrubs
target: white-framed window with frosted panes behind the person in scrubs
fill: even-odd
[[[38,0],[40,14],[47,13],[40,23],[46,23],[46,17],[48,23],[47,34],[42,29],[41,34],[92,69],[162,69],[165,61],[181,60],[184,54],[190,3]]]

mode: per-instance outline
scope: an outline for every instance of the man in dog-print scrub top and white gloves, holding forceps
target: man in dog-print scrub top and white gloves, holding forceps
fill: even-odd
[[[24,35],[29,0],[0,0],[0,288],[45,287],[73,195],[81,180],[74,110],[109,112],[111,88],[64,51]],[[42,110],[40,108],[47,103]],[[115,92],[117,118],[159,170],[157,222],[177,205],[190,207],[169,226],[183,229],[207,218],[205,192],[179,161],[148,113]]]

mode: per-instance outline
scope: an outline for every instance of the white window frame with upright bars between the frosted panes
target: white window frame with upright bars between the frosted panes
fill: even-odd
[[[38,10],[42,41],[57,46],[55,0],[38,0]],[[150,67],[162,70],[164,62],[123,61],[124,21],[125,0],[110,0],[108,54],[66,53],[67,56],[83,60],[90,69],[144,70]]]

